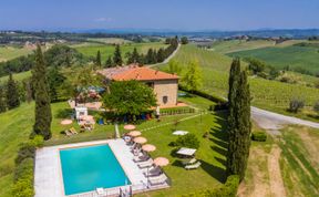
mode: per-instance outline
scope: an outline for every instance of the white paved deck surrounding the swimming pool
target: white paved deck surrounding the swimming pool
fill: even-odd
[[[123,170],[131,182],[133,191],[153,190],[147,188],[147,178],[143,174],[145,169],[138,168],[134,163],[134,155],[131,153],[130,146],[123,139],[94,141],[76,144],[58,145],[42,147],[37,149],[35,167],[34,167],[34,197],[65,197],[62,169],[60,163],[60,149],[74,148],[92,145],[109,144]],[[123,186],[125,187],[125,186]],[[167,187],[167,186],[165,186]],[[127,188],[127,187],[126,187]],[[113,191],[111,191],[113,189]],[[105,189],[105,191],[119,193],[120,187]],[[95,191],[89,191],[82,195],[72,196],[95,196]]]

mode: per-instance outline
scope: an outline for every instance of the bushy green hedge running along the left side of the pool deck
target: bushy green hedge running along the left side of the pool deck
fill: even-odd
[[[23,143],[18,151],[14,168],[14,184],[11,193],[13,197],[33,197],[34,156],[37,147],[43,146],[43,137],[34,136],[28,143]]]

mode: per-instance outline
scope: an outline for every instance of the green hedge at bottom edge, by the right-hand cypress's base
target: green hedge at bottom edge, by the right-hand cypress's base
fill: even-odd
[[[225,185],[214,189],[195,191],[183,197],[235,197],[239,185],[239,177],[230,175],[227,177]]]

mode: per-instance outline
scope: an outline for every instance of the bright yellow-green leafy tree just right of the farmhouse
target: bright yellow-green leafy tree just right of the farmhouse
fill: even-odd
[[[203,75],[198,61],[192,60],[187,71],[182,77],[182,83],[188,91],[197,91],[202,86]]]

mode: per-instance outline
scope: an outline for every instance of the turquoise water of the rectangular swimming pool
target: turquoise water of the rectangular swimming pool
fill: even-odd
[[[60,159],[65,195],[131,184],[109,145],[62,149]]]

